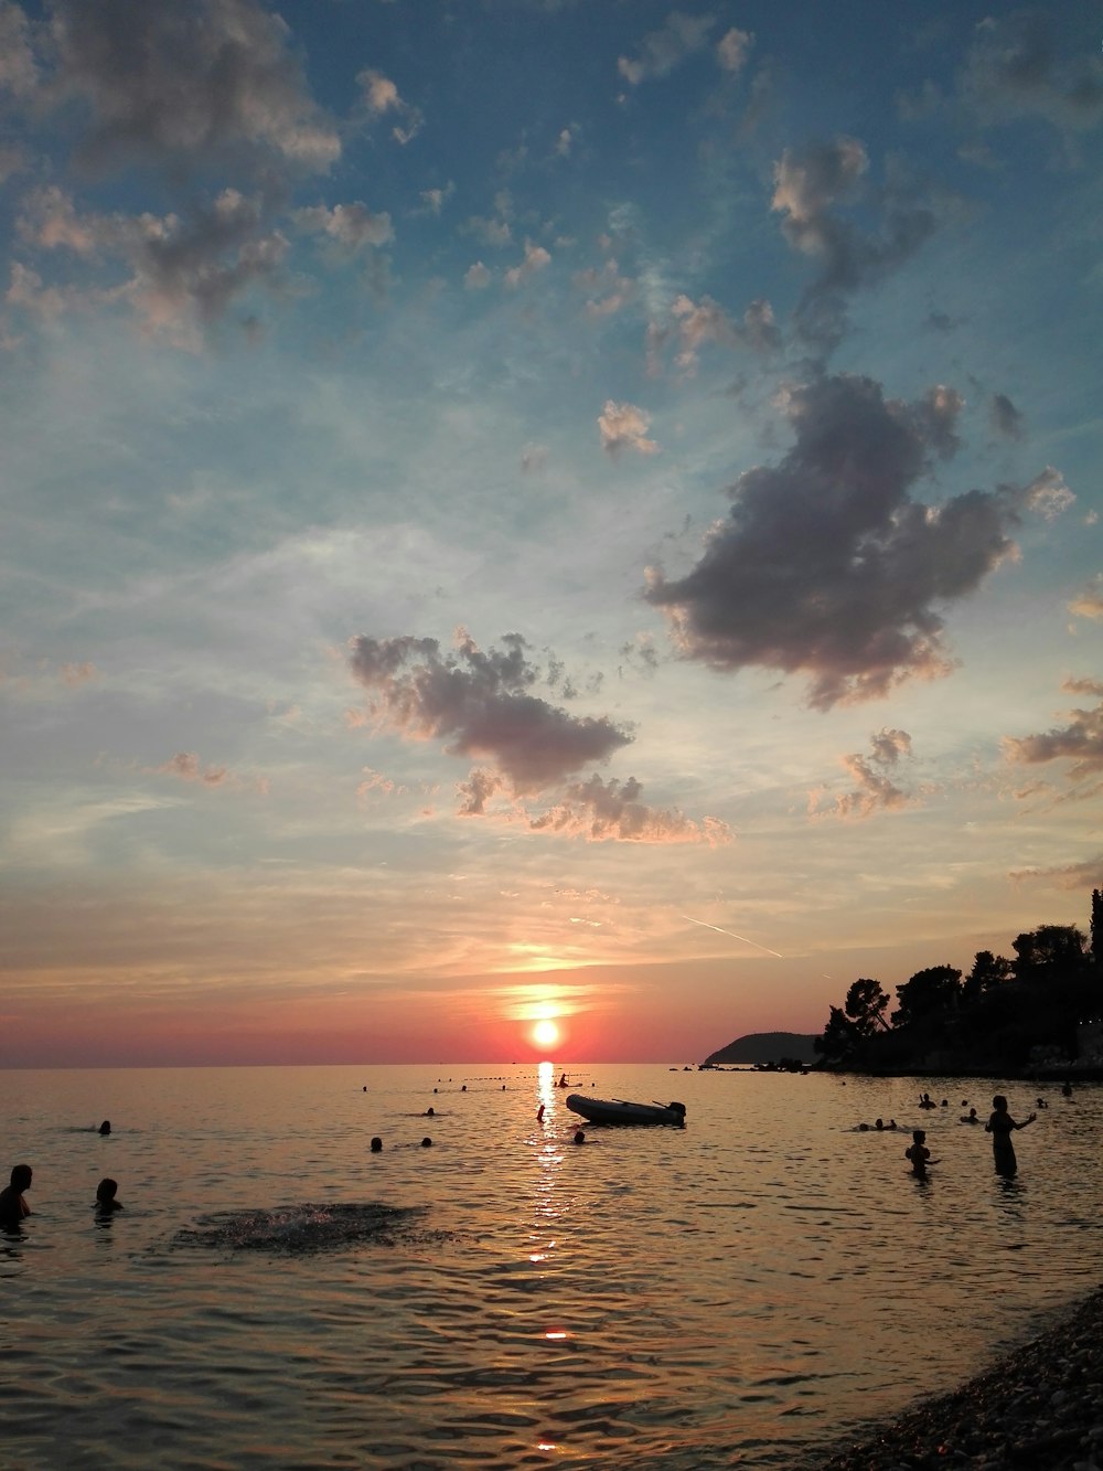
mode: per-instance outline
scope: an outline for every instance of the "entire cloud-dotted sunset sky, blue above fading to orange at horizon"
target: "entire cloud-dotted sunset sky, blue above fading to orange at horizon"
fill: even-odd
[[[0,1065],[694,1062],[1084,928],[1102,44],[0,0]]]

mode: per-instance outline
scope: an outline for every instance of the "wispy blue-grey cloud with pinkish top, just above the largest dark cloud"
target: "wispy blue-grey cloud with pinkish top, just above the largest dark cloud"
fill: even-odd
[[[857,138],[838,137],[806,149],[785,149],[774,171],[772,207],[794,250],[819,262],[819,275],[797,309],[802,335],[829,350],[846,328],[844,297],[881,279],[910,259],[934,232],[937,216],[919,191],[894,178],[866,187],[869,157]],[[838,213],[840,206],[872,204],[875,231]]]

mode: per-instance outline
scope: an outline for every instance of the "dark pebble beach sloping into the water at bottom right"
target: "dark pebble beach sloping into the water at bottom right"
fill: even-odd
[[[821,1450],[807,1471],[1103,1471],[1103,1289],[952,1395]]]

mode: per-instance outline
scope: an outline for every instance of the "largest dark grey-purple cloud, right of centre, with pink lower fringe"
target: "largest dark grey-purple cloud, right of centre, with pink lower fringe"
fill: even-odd
[[[647,600],[687,658],[804,672],[816,709],[947,674],[940,609],[1015,555],[1029,487],[940,506],[909,497],[932,455],[956,446],[953,390],[906,405],[841,374],[791,388],[782,406],[794,446],[738,477],[697,565],[669,581],[652,569]]]

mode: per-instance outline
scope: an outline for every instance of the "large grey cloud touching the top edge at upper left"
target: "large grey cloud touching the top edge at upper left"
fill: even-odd
[[[254,0],[54,0],[51,13],[47,96],[87,104],[82,156],[96,166],[141,156],[175,171],[253,153],[325,171],[340,156],[287,25]]]

